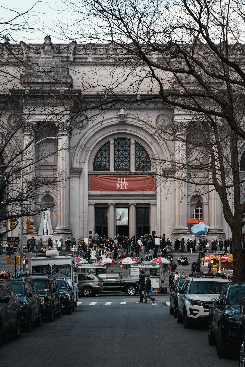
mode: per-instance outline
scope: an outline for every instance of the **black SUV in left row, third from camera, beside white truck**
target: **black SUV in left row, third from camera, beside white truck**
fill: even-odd
[[[30,279],[39,292],[42,302],[42,316],[48,321],[54,321],[54,314],[61,317],[61,298],[57,280],[53,275],[32,274],[25,276]]]

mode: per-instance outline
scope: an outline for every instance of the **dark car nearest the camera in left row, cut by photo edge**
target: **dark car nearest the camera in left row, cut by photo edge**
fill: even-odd
[[[14,339],[21,337],[21,307],[10,285],[0,280],[0,346],[2,335],[9,333]]]

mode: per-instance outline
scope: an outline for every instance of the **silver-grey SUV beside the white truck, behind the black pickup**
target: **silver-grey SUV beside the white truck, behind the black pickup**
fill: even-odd
[[[92,297],[103,289],[103,280],[97,274],[78,273],[78,291],[84,297]]]

